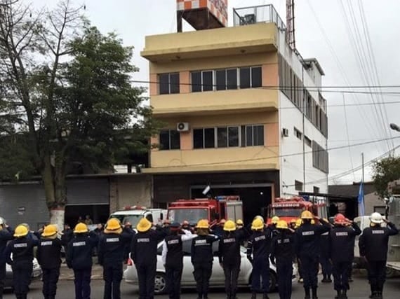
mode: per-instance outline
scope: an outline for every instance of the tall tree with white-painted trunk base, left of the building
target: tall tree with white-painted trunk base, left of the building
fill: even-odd
[[[98,172],[116,156],[148,151],[157,130],[135,88],[131,47],[102,35],[61,1],[55,11],[30,11],[0,0],[0,107],[27,135],[30,160],[41,175],[51,222],[62,225],[71,162]]]

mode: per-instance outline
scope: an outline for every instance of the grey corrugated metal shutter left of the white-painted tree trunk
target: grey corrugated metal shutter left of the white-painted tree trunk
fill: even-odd
[[[0,186],[0,216],[13,228],[28,223],[32,230],[50,221],[43,186],[38,183]]]

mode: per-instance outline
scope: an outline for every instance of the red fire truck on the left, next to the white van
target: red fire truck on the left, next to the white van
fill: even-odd
[[[200,219],[208,219],[211,225],[220,219],[236,221],[243,218],[243,202],[236,195],[176,200],[168,204],[167,217],[171,222],[189,221],[191,224]]]

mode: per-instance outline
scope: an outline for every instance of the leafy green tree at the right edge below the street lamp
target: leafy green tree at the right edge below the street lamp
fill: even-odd
[[[400,157],[389,156],[373,164],[373,182],[380,197],[387,197],[387,183],[400,179]]]

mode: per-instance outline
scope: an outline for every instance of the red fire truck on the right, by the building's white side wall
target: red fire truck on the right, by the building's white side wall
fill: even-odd
[[[290,222],[292,219],[300,217],[302,211],[311,211],[312,214],[321,218],[328,218],[328,207],[326,200],[312,198],[305,200],[304,197],[295,196],[290,198],[277,197],[269,205],[268,220],[271,222],[272,216],[278,216],[281,220]]]

